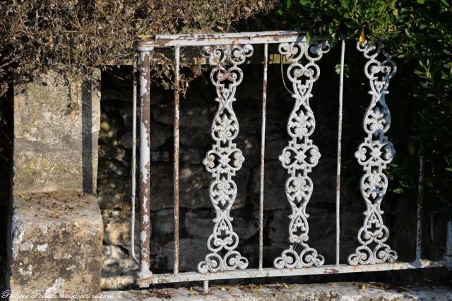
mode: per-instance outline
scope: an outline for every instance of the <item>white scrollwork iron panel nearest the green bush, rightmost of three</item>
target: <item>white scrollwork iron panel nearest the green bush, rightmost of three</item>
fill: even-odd
[[[388,94],[389,80],[396,74],[396,63],[392,56],[379,48],[378,44],[364,42],[357,43],[357,49],[362,51],[364,57],[369,59],[364,67],[364,73],[369,78],[372,99],[364,116],[363,128],[367,137],[359,145],[355,157],[364,170],[359,187],[366,202],[364,211],[364,225],[359,228],[358,240],[361,243],[355,253],[350,254],[348,263],[379,264],[395,262],[397,252],[385,242],[389,231],[383,225],[383,210],[381,202],[388,188],[388,178],[383,173],[386,166],[391,163],[395,150],[388,141],[385,133],[391,126],[391,114],[386,105],[385,95]],[[377,57],[382,54],[383,61]]]

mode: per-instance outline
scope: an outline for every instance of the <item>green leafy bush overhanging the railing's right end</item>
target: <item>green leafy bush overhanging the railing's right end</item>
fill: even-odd
[[[452,1],[451,0],[285,0],[277,11],[308,37],[380,40],[397,54],[403,98],[390,99],[407,123],[405,140],[389,173],[393,192],[417,190],[418,156],[426,160],[425,192],[430,211],[452,208]],[[350,51],[347,54],[350,56]],[[353,55],[353,54],[351,54]],[[359,54],[355,54],[357,56]],[[402,73],[402,74],[400,74]],[[393,87],[393,83],[391,83]],[[391,95],[390,97],[393,97]],[[399,106],[394,106],[397,100]]]

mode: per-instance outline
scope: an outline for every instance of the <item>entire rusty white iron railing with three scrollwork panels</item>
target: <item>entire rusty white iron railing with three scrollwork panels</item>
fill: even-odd
[[[235,173],[241,168],[244,158],[234,139],[239,133],[239,123],[234,109],[235,92],[243,79],[240,66],[253,55],[254,45],[263,44],[263,87],[261,128],[261,174],[259,204],[258,269],[248,268],[248,259],[237,251],[239,236],[231,223],[230,209],[237,195]],[[273,267],[263,266],[263,180],[266,133],[266,94],[268,44],[278,44],[278,52],[289,63],[287,78],[292,83],[295,99],[292,113],[288,117],[287,133],[290,140],[282,147],[280,161],[287,169],[285,192],[290,203],[290,227],[288,238],[291,245],[273,259]],[[321,152],[311,139],[316,121],[309,106],[311,90],[320,76],[317,62],[330,46],[326,39],[307,41],[303,32],[242,32],[211,35],[158,35],[155,39],[139,39],[135,44],[138,52],[138,99],[141,104],[140,121],[140,271],[136,283],[147,287],[153,283],[208,281],[226,278],[254,278],[290,275],[314,275],[352,273],[360,271],[387,271],[446,266],[451,257],[452,238],[448,239],[446,259],[432,262],[421,259],[422,202],[418,204],[417,248],[415,262],[396,262],[397,252],[387,244],[388,228],[383,224],[381,202],[388,187],[388,178],[383,171],[393,159],[393,144],[386,132],[391,125],[391,115],[385,101],[388,85],[396,73],[396,63],[391,55],[377,44],[357,43],[368,60],[364,74],[369,79],[371,99],[364,114],[364,141],[359,145],[355,157],[363,168],[359,182],[362,198],[366,204],[364,221],[357,233],[357,248],[346,263],[340,263],[340,157],[342,136],[343,66],[345,40],[341,41],[339,116],[338,116],[338,161],[336,177],[336,241],[335,264],[325,265],[319,250],[309,246],[309,221],[307,205],[314,183],[309,178],[312,168],[321,159]],[[150,271],[150,58],[156,47],[174,49],[174,271],[172,274],[152,274]],[[181,47],[203,47],[210,65],[210,81],[215,87],[218,110],[211,126],[212,148],[207,152],[203,164],[211,173],[210,201],[216,216],[213,231],[207,241],[206,257],[198,264],[198,271],[179,273],[179,60]],[[382,58],[382,59],[381,59]],[[136,111],[136,80],[134,78],[133,107]],[[135,166],[136,117],[133,116],[133,164]],[[132,222],[135,220],[135,171],[133,171]],[[452,233],[452,224],[448,225]],[[132,231],[134,227],[131,227]],[[452,234],[449,234],[452,236]],[[131,248],[134,254],[134,235]],[[294,245],[297,245],[295,249]]]

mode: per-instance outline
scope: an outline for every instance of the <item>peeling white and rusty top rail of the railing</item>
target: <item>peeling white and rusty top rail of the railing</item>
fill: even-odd
[[[314,41],[324,41],[326,37],[314,37]],[[277,30],[266,32],[235,32],[185,35],[156,35],[153,39],[138,37],[136,49],[145,51],[154,47],[273,44],[306,41],[306,32]]]

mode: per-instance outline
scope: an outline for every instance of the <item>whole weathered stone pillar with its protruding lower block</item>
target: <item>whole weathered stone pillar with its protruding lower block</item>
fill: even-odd
[[[14,85],[13,293],[100,290],[100,70],[91,71],[89,79],[50,71]]]

